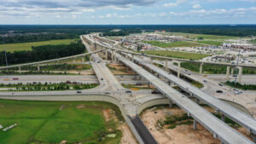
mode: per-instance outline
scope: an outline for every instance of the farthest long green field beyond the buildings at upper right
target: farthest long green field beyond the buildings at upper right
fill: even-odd
[[[217,35],[207,35],[207,34],[192,34],[192,33],[182,33],[182,32],[168,32],[163,33],[164,35],[175,35],[175,36],[183,36],[188,38],[197,38],[197,37],[203,37],[204,39],[208,40],[228,40],[228,39],[238,39],[239,37],[231,37],[231,36],[217,36]]]

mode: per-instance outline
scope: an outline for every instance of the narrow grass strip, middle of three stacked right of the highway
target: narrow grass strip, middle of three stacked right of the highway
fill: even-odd
[[[196,47],[196,46],[202,45],[200,43],[189,43],[189,42],[164,43],[159,41],[143,41],[143,43],[149,43],[151,45],[161,47],[161,48]]]

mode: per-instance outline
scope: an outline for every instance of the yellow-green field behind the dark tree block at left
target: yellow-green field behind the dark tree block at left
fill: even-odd
[[[32,46],[41,46],[41,45],[58,45],[58,44],[69,44],[73,42],[74,39],[61,39],[61,40],[50,40],[50,41],[43,41],[43,42],[32,42],[32,43],[9,43],[4,44],[0,51],[6,50],[9,52],[19,51],[19,50],[32,50]]]

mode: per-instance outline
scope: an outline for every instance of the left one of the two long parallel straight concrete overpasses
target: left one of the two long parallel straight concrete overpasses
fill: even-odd
[[[102,43],[96,42],[97,45],[101,46],[102,49],[113,49],[122,51],[120,49],[114,49],[112,47],[103,45]],[[122,55],[113,53],[113,57],[116,57],[117,60],[123,62],[126,66],[130,66],[131,69],[137,72],[140,76],[147,79],[148,82],[154,85],[155,88],[159,89],[160,92],[168,97],[171,101],[177,104],[177,106],[183,108],[188,115],[193,117],[194,128],[196,129],[196,123],[201,123],[207,130],[213,133],[213,136],[220,139],[224,143],[253,143],[249,141],[246,137],[238,133],[236,130],[233,130],[227,124],[224,124],[221,120],[213,116],[210,112],[198,106],[194,101],[189,100],[188,97],[182,95],[177,90],[172,89],[168,84],[161,81],[159,78],[154,77],[153,74],[147,72],[142,67],[137,66],[131,60],[125,59]]]

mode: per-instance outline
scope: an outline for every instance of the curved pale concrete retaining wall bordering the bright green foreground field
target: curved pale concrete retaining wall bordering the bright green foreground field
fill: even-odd
[[[119,103],[117,99],[113,96],[107,95],[63,95],[63,96],[45,96],[45,95],[37,95],[37,96],[0,96],[0,99],[8,99],[8,100],[26,100],[26,101],[104,101],[112,103],[113,105],[119,107],[120,112],[122,113],[123,118],[125,118],[125,122],[129,125],[131,132],[136,137],[137,141],[140,144],[144,144],[140,135],[137,133],[134,125],[131,123],[130,118],[126,115],[124,107]]]

